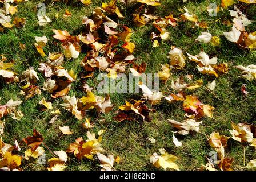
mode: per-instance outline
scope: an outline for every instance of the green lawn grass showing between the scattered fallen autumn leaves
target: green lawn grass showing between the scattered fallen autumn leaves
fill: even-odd
[[[100,6],[100,1],[93,1],[91,6],[83,6],[81,3],[73,3],[72,5],[55,2],[47,3],[46,10],[47,16],[52,20],[51,23],[45,27],[37,25],[37,10],[35,9],[37,3],[41,1],[31,0],[26,3],[18,5],[18,13],[16,16],[19,18],[26,18],[25,28],[11,28],[6,29],[5,32],[0,33],[0,54],[6,55],[10,60],[15,60],[14,72],[21,74],[27,68],[33,66],[37,71],[39,63],[46,60],[42,58],[34,47],[34,36],[47,36],[49,42],[43,48],[46,55],[49,52],[62,51],[59,46],[55,46],[53,43],[58,42],[52,35],[51,29],[67,30],[71,35],[78,35],[83,30],[82,18],[83,16],[90,16],[95,7]],[[183,50],[183,53],[190,53],[191,55],[198,55],[203,49],[210,56],[218,56],[219,63],[229,64],[229,73],[217,78],[217,86],[214,90],[214,94],[207,91],[205,88],[199,88],[187,94],[195,94],[198,96],[204,104],[209,104],[215,107],[213,118],[204,118],[201,126],[201,133],[210,135],[213,131],[217,131],[220,134],[230,136],[229,129],[231,129],[231,121],[235,123],[247,122],[251,124],[256,123],[256,82],[247,81],[241,78],[241,72],[234,68],[235,65],[249,65],[256,63],[256,52],[246,51],[239,49],[233,43],[228,42],[223,36],[223,31],[230,31],[231,26],[225,26],[221,22],[215,22],[219,18],[229,18],[229,13],[225,10],[220,12],[218,17],[211,18],[207,15],[206,7],[211,2],[219,1],[188,1],[183,3],[182,1],[162,0],[162,6],[157,7],[156,15],[167,16],[173,14],[174,17],[178,17],[181,12],[178,10],[183,5],[198,15],[200,20],[204,20],[209,24],[208,31],[212,35],[217,35],[221,38],[221,45],[219,47],[213,47],[207,44],[196,43],[194,40],[200,35],[201,31],[207,31],[203,28],[191,27],[191,22],[179,22],[177,27],[168,27],[167,30],[170,33],[168,40],[161,43],[157,48],[152,48],[153,43],[149,39],[150,33],[154,30],[150,24],[144,27],[135,27],[131,22],[131,15],[129,8],[124,5],[122,7],[123,15],[125,19],[120,23],[125,23],[127,26],[134,30],[132,41],[135,43],[136,48],[134,55],[137,59],[137,63],[145,61],[147,63],[147,73],[157,73],[161,64],[169,63],[169,59],[166,58],[167,52],[170,51],[171,46],[177,46]],[[70,18],[63,18],[65,9],[68,9],[72,16]],[[55,14],[59,14],[59,19],[54,18]],[[256,7],[255,5],[248,5],[246,12],[247,17],[250,20],[254,20],[250,26],[247,27],[247,31],[256,30]],[[26,50],[22,51],[19,48],[19,43],[26,44]],[[64,67],[66,69],[73,68],[76,73],[83,72],[81,68],[81,60],[85,56],[85,53],[81,53],[78,59],[65,60]],[[47,56],[46,56],[47,57]],[[177,78],[180,75],[187,75],[188,73],[194,75],[195,78],[202,78],[204,85],[208,81],[213,81],[214,78],[206,75],[202,75],[197,71],[194,63],[186,61],[186,67],[183,71],[173,72],[173,77]],[[37,71],[38,72],[38,71]],[[40,81],[38,86],[42,86],[45,78],[38,72]],[[171,80],[167,82],[170,88]],[[24,100],[24,97],[19,95],[20,88],[16,83],[3,84],[0,83],[0,104],[5,104],[8,100]],[[87,84],[97,88],[96,78],[87,80]],[[249,95],[244,98],[241,94],[241,85],[247,85],[247,91]],[[81,98],[85,96],[85,93],[81,90],[82,82],[80,80],[75,81],[72,86],[69,95]],[[165,84],[161,84],[160,90],[167,92]],[[97,94],[97,93],[96,93]],[[115,111],[118,110],[118,106],[125,103],[125,100],[135,97],[133,94],[111,94],[111,101],[115,104],[114,110],[108,114],[101,114],[98,120],[95,122],[95,126],[90,131],[97,133],[99,130],[107,128],[106,133],[103,134],[102,146],[108,151],[111,151],[115,155],[121,157],[121,163],[115,164],[117,170],[155,170],[156,168],[150,162],[149,157],[154,152],[158,152],[159,148],[165,148],[169,154],[178,156],[178,166],[182,170],[193,170],[200,168],[201,164],[206,164],[206,156],[212,150],[207,143],[205,135],[201,133],[190,134],[185,136],[178,136],[179,140],[182,140],[182,147],[175,147],[171,137],[175,129],[167,122],[167,119],[175,119],[182,121],[184,112],[182,110],[181,103],[167,104],[162,102],[161,105],[154,106],[157,110],[156,113],[151,113],[153,121],[150,123],[141,123],[136,121],[126,121],[118,123],[114,121],[113,116]],[[73,143],[78,137],[86,139],[86,131],[82,129],[82,121],[75,119],[73,115],[62,109],[62,99],[57,98],[53,101],[53,106],[61,109],[61,117],[53,124],[49,124],[49,120],[52,117],[50,112],[42,113],[39,110],[38,102],[42,97],[50,98],[50,94],[43,92],[42,96],[35,96],[29,98],[22,103],[19,110],[22,110],[24,117],[21,121],[15,121],[11,117],[5,117],[6,129],[3,134],[3,141],[5,143],[12,144],[14,140],[21,141],[22,138],[30,136],[33,133],[33,129],[37,129],[41,132],[45,138],[45,144],[51,149],[51,151],[66,150],[69,143]],[[95,111],[87,112],[87,115],[91,118],[91,121],[95,121],[97,113]],[[63,135],[58,129],[58,126],[70,126],[74,132],[73,135]],[[157,140],[157,143],[151,144],[147,138],[153,137]],[[226,156],[234,158],[233,168],[243,169],[243,146],[245,147],[245,163],[249,160],[256,159],[255,150],[249,147],[248,144],[241,144],[234,140],[229,140],[229,145],[225,150]],[[26,150],[26,145],[21,144],[22,152]],[[46,158],[53,157],[51,153],[45,148]],[[97,160],[90,161],[83,159],[79,161],[74,155],[69,155],[67,161],[67,170],[99,170],[99,162]],[[22,168],[26,170],[44,170],[46,166],[37,164],[37,160],[26,161],[22,160]]]

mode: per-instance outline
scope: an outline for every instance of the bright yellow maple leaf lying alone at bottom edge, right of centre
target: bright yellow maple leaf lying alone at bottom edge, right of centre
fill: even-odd
[[[162,167],[164,170],[171,168],[179,171],[179,167],[175,163],[175,160],[178,158],[174,155],[168,154],[164,149],[159,151],[161,155],[154,153],[153,156],[150,156],[150,162],[157,168]]]

